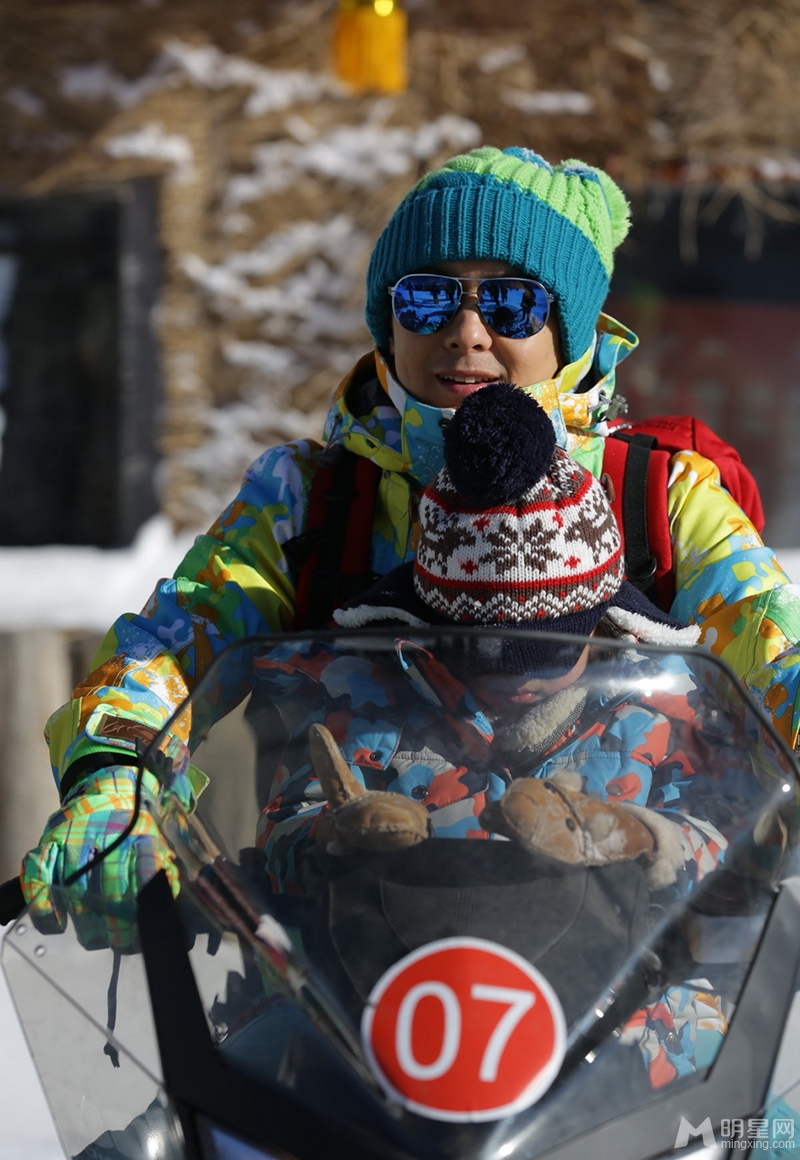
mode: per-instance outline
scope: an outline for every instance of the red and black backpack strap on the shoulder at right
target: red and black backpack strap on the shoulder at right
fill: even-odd
[[[623,537],[631,583],[668,611],[675,599],[667,483],[669,452],[653,436],[619,432],[605,440],[603,476]]]

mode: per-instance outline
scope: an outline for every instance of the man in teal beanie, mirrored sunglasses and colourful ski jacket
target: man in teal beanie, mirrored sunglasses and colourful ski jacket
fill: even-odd
[[[369,544],[369,570],[378,575],[413,558],[415,505],[442,466],[443,429],[487,383],[512,382],[533,396],[559,443],[602,473],[616,364],[637,345],[601,313],[627,229],[627,203],[606,174],[577,161],[551,167],[523,148],[453,158],[410,190],[372,254],[366,319],[376,350],[334,396],[328,455],[306,440],[264,452],[175,577],[139,616],[116,622],[99,667],[51,718],[63,809],[23,863],[28,901],[124,833],[137,747],[166,724],[213,657],[232,640],[296,626],[289,544],[303,545],[312,480],[332,449],[379,469]],[[710,461],[674,457],[668,508],[674,615],[701,624],[706,644],[754,688],[764,686],[764,662],[800,639],[786,575]],[[794,739],[793,697],[777,688],[777,696],[772,686],[757,691]],[[175,745],[187,740],[179,731]],[[180,782],[187,804],[198,789],[189,767]],[[174,873],[150,814],[159,795],[151,774],[143,790],[132,838],[95,870],[115,898],[134,893],[162,864]],[[46,893],[37,905],[46,923]]]

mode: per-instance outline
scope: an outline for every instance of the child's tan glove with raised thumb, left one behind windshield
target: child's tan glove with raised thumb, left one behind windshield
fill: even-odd
[[[365,790],[342,756],[329,730],[312,725],[308,746],[328,807],[317,840],[328,854],[400,850],[430,836],[430,818],[420,802],[385,790]]]

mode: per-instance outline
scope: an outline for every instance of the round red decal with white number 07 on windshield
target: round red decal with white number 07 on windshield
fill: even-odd
[[[434,1119],[499,1119],[558,1075],[566,1023],[530,963],[483,938],[442,938],[378,980],[362,1039],[381,1085]]]

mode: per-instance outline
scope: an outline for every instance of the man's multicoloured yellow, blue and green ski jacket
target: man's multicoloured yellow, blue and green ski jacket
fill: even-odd
[[[601,316],[596,341],[557,378],[526,386],[548,412],[560,443],[601,471],[605,416],[617,362],[635,336]],[[587,386],[587,384],[590,384]],[[381,469],[371,568],[385,574],[415,551],[421,491],[443,463],[443,413],[413,399],[378,353],[362,358],[334,394],[328,443],[341,441]],[[294,580],[284,545],[304,531],[308,491],[322,444],[297,440],[264,451],[235,499],[199,536],[172,579],[138,615],[107,635],[93,673],[48,723],[58,784],[97,754],[119,760],[160,730],[211,660],[230,643],[293,626]],[[800,594],[752,525],[720,486],[714,465],[694,452],[672,459],[668,509],[681,619],[703,625],[705,643],[755,686],[762,703],[794,740],[800,715],[785,673],[776,694],[765,662],[800,640]],[[800,677],[800,668],[792,670]],[[246,682],[247,674],[241,674]],[[234,682],[235,683],[235,682]],[[241,690],[227,690],[230,698]],[[184,732],[184,731],[183,731]],[[188,741],[182,727],[176,740]]]

